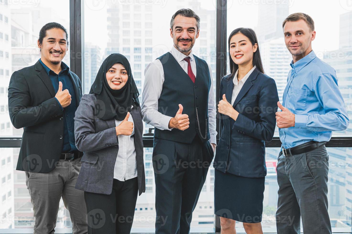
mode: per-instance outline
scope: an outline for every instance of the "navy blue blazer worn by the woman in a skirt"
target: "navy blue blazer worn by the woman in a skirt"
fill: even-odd
[[[233,86],[231,75],[222,78],[220,100],[226,94],[231,103]],[[219,115],[222,130],[214,168],[243,177],[266,176],[265,141],[274,135],[278,101],[275,80],[254,69],[233,103],[237,120]]]

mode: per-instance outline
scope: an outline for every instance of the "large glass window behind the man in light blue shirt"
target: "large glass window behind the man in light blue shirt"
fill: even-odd
[[[329,17],[317,9],[320,5],[329,9]],[[284,43],[282,22],[292,13],[310,15],[315,23],[316,37],[312,47],[322,61],[331,65],[338,77],[348,114],[352,114],[352,11],[346,1],[228,1],[227,36],[238,27],[252,28],[258,38],[265,73],[276,81],[279,99],[282,102],[287,75],[291,70],[292,57]],[[238,20],[238,14],[251,17]],[[242,20],[243,19],[243,20]],[[228,38],[227,38],[228,39]],[[227,48],[226,41],[226,48]],[[227,59],[231,59],[230,56]],[[229,70],[227,70],[229,72]],[[307,77],[309,78],[309,77]],[[333,135],[352,136],[352,125]],[[276,127],[275,136],[278,137]],[[277,208],[276,162],[278,148],[266,149],[265,197],[263,227],[275,229]],[[327,148],[329,160],[328,199],[329,215],[333,231],[351,231],[351,148]],[[342,229],[341,229],[342,228]]]

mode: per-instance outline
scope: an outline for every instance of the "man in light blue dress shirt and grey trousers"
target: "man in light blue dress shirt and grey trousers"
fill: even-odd
[[[349,119],[335,70],[312,50],[314,21],[304,13],[283,22],[291,71],[276,113],[282,149],[278,157],[278,234],[328,234],[328,160],[325,143],[332,131],[345,130]]]

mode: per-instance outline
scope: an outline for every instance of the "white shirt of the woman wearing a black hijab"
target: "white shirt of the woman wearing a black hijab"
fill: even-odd
[[[133,107],[133,106],[132,106]],[[118,135],[119,151],[114,167],[114,179],[125,181],[137,177],[136,148],[134,147],[134,122],[132,115],[128,121],[133,123],[132,134],[129,136]],[[115,125],[119,126],[122,121],[115,120]]]

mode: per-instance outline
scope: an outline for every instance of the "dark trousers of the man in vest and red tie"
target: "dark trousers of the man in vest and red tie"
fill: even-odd
[[[189,233],[213,157],[210,143],[198,136],[190,144],[154,138],[156,234]]]

